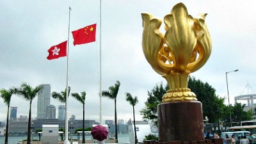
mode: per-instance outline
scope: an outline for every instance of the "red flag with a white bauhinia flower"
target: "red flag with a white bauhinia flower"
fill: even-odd
[[[48,60],[53,60],[56,58],[67,56],[67,41],[62,42],[61,44],[52,46],[49,50]]]

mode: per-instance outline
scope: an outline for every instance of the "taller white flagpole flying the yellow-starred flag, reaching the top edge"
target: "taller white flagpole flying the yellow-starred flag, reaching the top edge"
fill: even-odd
[[[102,107],[101,107],[101,97],[102,97],[102,90],[101,90],[101,0],[100,0],[100,125],[102,125]]]

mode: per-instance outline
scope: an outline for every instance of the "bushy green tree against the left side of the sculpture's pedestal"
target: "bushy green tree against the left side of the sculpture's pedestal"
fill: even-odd
[[[163,82],[161,82],[159,85],[156,84],[150,92],[148,91],[148,99],[145,102],[145,108],[140,111],[141,115],[143,115],[143,119],[152,120],[152,122],[157,125],[157,105],[162,101],[162,97],[167,90],[168,85],[163,86]]]

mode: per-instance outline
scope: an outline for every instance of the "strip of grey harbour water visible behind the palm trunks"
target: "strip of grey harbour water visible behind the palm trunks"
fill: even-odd
[[[77,136],[72,136],[73,140],[78,140]],[[4,143],[4,136],[0,136],[0,144]],[[19,141],[26,140],[27,136],[9,136],[8,144],[17,144]],[[79,138],[82,140],[82,136]],[[38,140],[38,136],[33,136],[33,140]],[[60,139],[61,140],[61,139]],[[85,140],[91,140],[91,136],[86,136]],[[118,134],[118,142],[129,142],[129,134]]]

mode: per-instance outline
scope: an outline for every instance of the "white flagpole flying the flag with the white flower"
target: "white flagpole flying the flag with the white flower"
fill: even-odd
[[[70,12],[71,8],[69,6],[69,17],[68,17],[68,47],[67,47],[67,87],[66,87],[66,108],[65,108],[65,140],[64,144],[69,144],[68,141],[68,51],[69,51],[69,31],[70,31]]]

